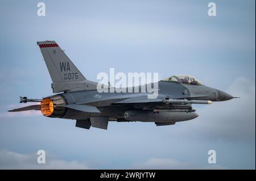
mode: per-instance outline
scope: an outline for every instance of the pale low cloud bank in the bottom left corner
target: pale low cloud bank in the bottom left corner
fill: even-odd
[[[37,154],[0,150],[0,169],[89,169],[85,163],[57,159],[46,152],[46,163],[37,162]]]

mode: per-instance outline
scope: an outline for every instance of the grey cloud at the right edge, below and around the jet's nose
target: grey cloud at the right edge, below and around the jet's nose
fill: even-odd
[[[214,102],[197,109],[200,116],[189,123],[191,127],[187,132],[210,140],[255,143],[255,82],[244,77],[237,78],[226,92],[241,98]]]

